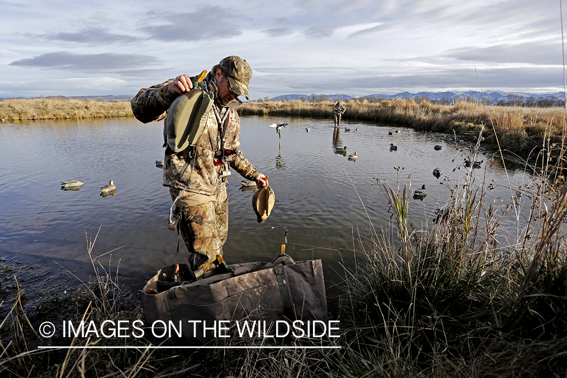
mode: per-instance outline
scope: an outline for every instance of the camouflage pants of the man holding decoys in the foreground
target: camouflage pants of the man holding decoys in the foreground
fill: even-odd
[[[215,267],[217,256],[222,256],[222,246],[229,233],[229,199],[223,202],[209,201],[181,208],[179,231],[189,250],[191,269],[202,268],[203,273]]]

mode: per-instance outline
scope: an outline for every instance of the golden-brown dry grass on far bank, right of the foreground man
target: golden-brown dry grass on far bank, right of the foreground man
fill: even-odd
[[[309,103],[292,101],[251,101],[239,107],[240,114],[278,114],[332,118],[334,101]],[[350,100],[344,104],[344,119],[389,122],[417,130],[456,133],[472,141],[485,128],[485,145],[526,156],[544,139],[560,140],[565,128],[564,108],[497,107],[471,101],[453,105],[431,104],[427,100]],[[496,140],[498,138],[498,141]]]

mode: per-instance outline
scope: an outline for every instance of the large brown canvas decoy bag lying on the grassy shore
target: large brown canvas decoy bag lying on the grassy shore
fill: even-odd
[[[179,345],[206,343],[213,338],[212,331],[203,333],[202,321],[207,327],[215,320],[327,322],[321,260],[294,262],[282,256],[287,255],[280,254],[271,263],[232,264],[229,273],[181,284],[163,281],[175,265],[164,267],[139,292],[146,326],[156,320],[174,324],[181,320],[183,337],[171,339]],[[185,264],[178,265],[181,270],[188,269]],[[189,321],[201,321],[196,323],[196,332]]]

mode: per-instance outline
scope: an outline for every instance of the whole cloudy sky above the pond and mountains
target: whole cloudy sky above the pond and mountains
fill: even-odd
[[[0,97],[134,95],[229,55],[251,65],[251,99],[564,88],[560,0],[0,0],[0,10]]]

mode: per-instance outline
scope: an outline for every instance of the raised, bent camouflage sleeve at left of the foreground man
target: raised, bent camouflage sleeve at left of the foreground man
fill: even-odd
[[[132,112],[137,120],[147,124],[151,121],[163,120],[167,116],[167,109],[177,98],[169,85],[173,80],[169,79],[167,82],[139,90],[130,101]]]

